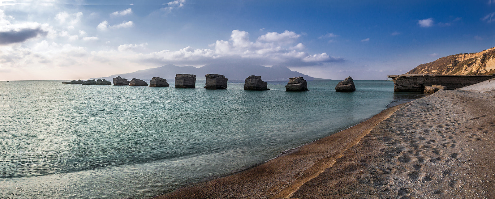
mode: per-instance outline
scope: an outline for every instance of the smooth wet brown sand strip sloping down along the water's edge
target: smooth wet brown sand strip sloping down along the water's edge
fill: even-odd
[[[153,199],[287,198],[304,183],[331,167],[347,149],[403,104],[388,108],[346,130],[317,140],[233,175],[180,188]]]

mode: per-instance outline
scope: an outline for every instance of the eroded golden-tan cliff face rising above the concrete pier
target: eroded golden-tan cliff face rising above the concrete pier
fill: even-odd
[[[406,74],[490,75],[495,73],[495,47],[476,53],[442,57],[424,63]]]

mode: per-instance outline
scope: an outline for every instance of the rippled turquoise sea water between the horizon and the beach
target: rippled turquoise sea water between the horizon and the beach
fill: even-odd
[[[246,169],[385,109],[392,81],[308,92],[0,81],[0,198],[145,199]]]

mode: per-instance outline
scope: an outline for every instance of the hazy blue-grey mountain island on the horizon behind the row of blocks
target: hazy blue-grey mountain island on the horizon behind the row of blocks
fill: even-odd
[[[221,74],[229,78],[229,80],[244,80],[250,75],[261,76],[263,80],[288,80],[290,77],[301,76],[305,80],[331,80],[314,78],[302,73],[292,71],[285,66],[272,66],[265,67],[261,65],[233,65],[233,64],[208,64],[200,68],[193,66],[176,66],[173,64],[167,64],[157,68],[149,68],[146,70],[138,70],[132,73],[124,73],[118,75],[111,75],[108,77],[99,77],[91,79],[107,79],[111,80],[114,77],[120,76],[122,78],[132,79],[151,79],[153,77],[161,77],[167,80],[174,80],[175,74],[185,73],[194,74],[196,79],[204,80],[207,73]]]

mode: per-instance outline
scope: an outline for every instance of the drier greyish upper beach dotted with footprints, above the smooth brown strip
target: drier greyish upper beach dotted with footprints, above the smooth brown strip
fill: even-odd
[[[495,199],[495,93],[439,91],[405,104],[301,199]]]

